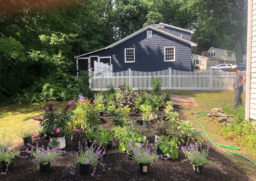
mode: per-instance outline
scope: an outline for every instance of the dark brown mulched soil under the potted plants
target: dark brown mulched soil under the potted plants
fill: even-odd
[[[164,117],[164,112],[159,111],[159,117]],[[113,128],[112,117],[105,114],[100,119],[102,120],[100,127],[105,129]],[[136,126],[140,127],[150,142],[154,141],[154,135],[158,134],[156,129],[154,127],[143,128],[140,114],[134,113],[129,116],[129,119],[137,122]],[[77,151],[78,141],[85,143],[86,139],[83,135],[77,135],[74,140],[67,140],[65,150],[73,153]],[[36,138],[33,140],[33,145],[36,142],[39,146],[47,145],[49,140]],[[21,146],[20,150],[24,151],[26,147]],[[21,152],[21,154],[22,156],[28,155],[26,152]],[[0,180],[249,180],[242,170],[239,170],[236,165],[232,164],[213,148],[209,150],[209,160],[214,164],[205,164],[204,175],[196,174],[190,163],[182,162],[184,158],[184,154],[182,154],[179,148],[178,159],[166,161],[159,158],[150,163],[148,175],[141,175],[139,164],[132,161],[124,152],[118,150],[118,143],[115,142],[113,148],[106,152],[106,156],[102,160],[104,169],[102,166],[97,166],[93,176],[80,175],[78,164],[75,175],[71,175],[70,168],[75,158],[71,157],[70,154],[63,154],[63,159],[51,163],[51,170],[48,173],[40,173],[39,165],[31,163],[31,157],[26,159],[17,157],[13,161],[13,166],[8,170],[8,173],[0,175]],[[227,171],[227,175],[223,171]]]

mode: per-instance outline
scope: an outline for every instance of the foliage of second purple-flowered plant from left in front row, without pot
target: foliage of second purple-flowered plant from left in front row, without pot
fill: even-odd
[[[33,157],[32,162],[38,164],[48,164],[55,159],[61,158],[61,154],[65,153],[65,151],[60,150],[58,147],[56,148],[49,148],[49,147],[38,147],[38,143],[36,146],[30,145],[31,150],[29,148],[26,149],[26,153],[30,154]]]

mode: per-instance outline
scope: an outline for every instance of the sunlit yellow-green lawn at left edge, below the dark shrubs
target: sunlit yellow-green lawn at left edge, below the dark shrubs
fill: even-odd
[[[55,106],[63,107],[66,102],[57,102]],[[49,103],[24,103],[8,106],[0,106],[0,140],[3,139],[3,133],[6,138],[11,139],[14,143],[20,143],[22,138],[19,137],[21,130],[28,127],[32,129],[39,125],[39,122],[33,120],[34,117],[40,117]]]

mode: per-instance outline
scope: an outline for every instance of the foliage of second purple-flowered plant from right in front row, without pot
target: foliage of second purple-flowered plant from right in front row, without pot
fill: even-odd
[[[138,163],[148,164],[157,159],[157,144],[129,142],[129,150],[132,152],[132,159]]]

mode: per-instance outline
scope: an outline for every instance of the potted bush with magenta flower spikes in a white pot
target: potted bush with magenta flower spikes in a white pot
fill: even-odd
[[[45,110],[44,118],[40,122],[44,134],[49,136],[50,140],[56,140],[60,143],[59,148],[65,148],[66,140],[65,135],[68,133],[70,112],[68,108],[74,104],[74,101],[70,101],[67,106],[60,112],[58,112],[53,103],[49,105],[49,108]]]

